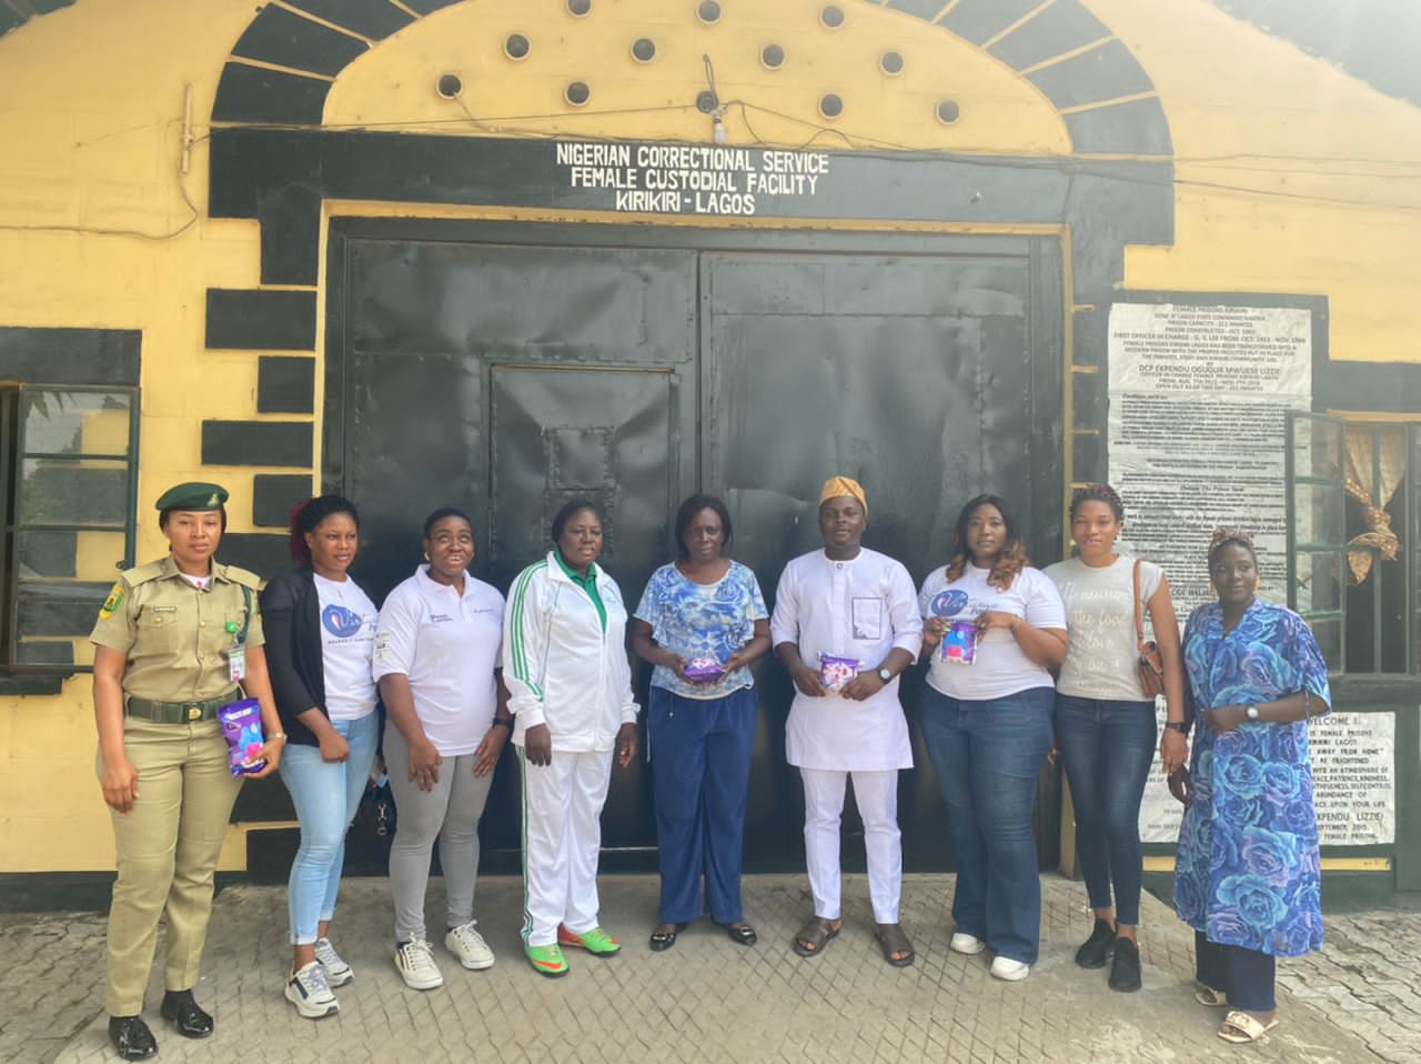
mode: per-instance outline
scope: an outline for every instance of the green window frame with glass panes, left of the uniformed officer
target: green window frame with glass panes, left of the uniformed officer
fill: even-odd
[[[60,398],[63,408],[64,395],[98,394],[122,395],[126,398],[128,431],[125,435],[125,452],[74,452],[45,449],[27,437],[27,413],[33,405],[47,397]],[[0,674],[11,676],[74,676],[90,673],[92,666],[74,660],[26,660],[26,640],[21,632],[21,599],[26,592],[34,589],[54,589],[63,593],[65,585],[84,586],[94,585],[94,609],[82,630],[54,632],[50,639],[63,642],[65,639],[82,639],[88,636],[92,619],[102,606],[104,595],[117,575],[134,565],[135,541],[135,512],[138,502],[138,428],[139,428],[139,391],[136,387],[114,384],[43,384],[24,383],[0,387]],[[125,486],[121,496],[121,511],[112,519],[92,523],[75,521],[43,521],[31,519],[24,512],[23,478],[27,462],[43,462],[53,468],[64,465],[80,467],[84,462],[122,464]],[[114,572],[102,573],[99,579],[82,579],[84,573],[74,576],[43,576],[26,575],[20,565],[21,542],[27,532],[107,532],[122,535],[122,558],[115,559]],[[104,590],[97,587],[102,585]],[[68,599],[72,605],[72,599]],[[43,640],[37,640],[43,642]]]

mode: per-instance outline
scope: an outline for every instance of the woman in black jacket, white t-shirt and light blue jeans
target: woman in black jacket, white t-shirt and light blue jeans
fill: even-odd
[[[345,832],[379,735],[371,679],[378,612],[347,575],[358,546],[360,515],[348,499],[310,499],[291,515],[297,568],[261,592],[271,688],[288,737],[281,780],[301,824],[287,890],[294,956],[286,997],[313,1020],[334,1013],[331,987],[354,979],[328,936]]]

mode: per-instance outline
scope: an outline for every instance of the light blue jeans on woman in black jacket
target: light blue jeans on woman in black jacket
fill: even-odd
[[[365,794],[379,740],[379,718],[374,713],[360,720],[333,720],[331,727],[350,744],[348,760],[325,762],[320,747],[297,744],[281,754],[281,782],[291,792],[296,819],[301,824],[301,845],[287,885],[291,942],[297,946],[314,943],[318,925],[335,913],[345,832]]]

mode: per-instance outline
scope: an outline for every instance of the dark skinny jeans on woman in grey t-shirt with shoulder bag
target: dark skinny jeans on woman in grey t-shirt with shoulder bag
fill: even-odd
[[[1155,748],[1154,701],[1056,696],[1056,745],[1076,807],[1076,852],[1091,909],[1140,923],[1140,799]]]

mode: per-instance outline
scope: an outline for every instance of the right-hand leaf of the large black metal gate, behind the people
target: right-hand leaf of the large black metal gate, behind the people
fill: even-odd
[[[1061,366],[1043,358],[1032,330],[1059,333],[1060,297],[1033,292],[1025,250],[702,256],[705,482],[726,496],[735,553],[769,597],[784,563],[821,545],[818,486],[833,472],[864,482],[864,542],[915,580],[946,562],[958,509],[988,489],[1017,511],[1032,549],[1054,560],[1059,494],[1042,496],[1036,485],[1060,484],[1059,435],[1033,430],[1042,395],[1060,394]],[[794,866],[803,807],[783,751],[793,690],[779,669],[760,676],[764,717],[750,775],[760,815],[747,825],[746,861]],[[909,674],[909,717],[919,690]],[[938,868],[949,853],[945,814],[914,734],[919,770],[899,795],[905,861]],[[845,862],[861,852],[845,846]]]

